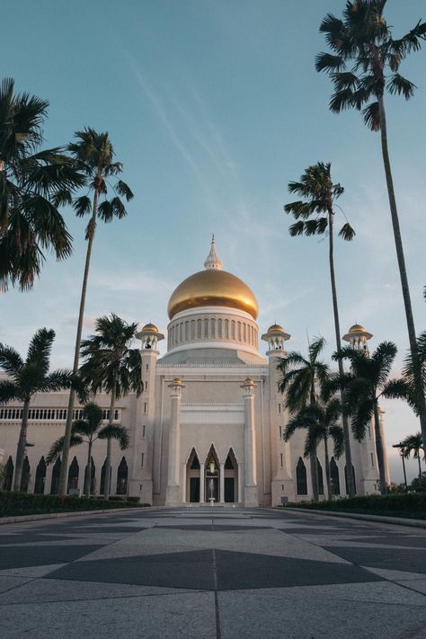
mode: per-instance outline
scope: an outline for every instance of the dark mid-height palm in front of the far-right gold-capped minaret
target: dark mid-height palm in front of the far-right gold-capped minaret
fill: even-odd
[[[360,441],[366,436],[368,424],[373,420],[376,439],[376,454],[380,492],[387,493],[385,450],[378,413],[380,397],[393,398],[393,382],[388,377],[396,356],[393,342],[381,342],[371,356],[351,346],[333,353],[333,359],[348,359],[351,370],[344,375],[331,376],[325,385],[327,392],[343,391],[343,402],[352,416],[352,430],[355,439]]]

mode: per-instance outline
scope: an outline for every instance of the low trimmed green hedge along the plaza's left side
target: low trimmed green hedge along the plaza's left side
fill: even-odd
[[[107,510],[111,508],[138,508],[142,504],[134,500],[88,499],[65,497],[62,503],[58,495],[13,493],[0,491],[0,517],[36,515],[45,512],[70,512],[73,510]],[[146,505],[146,504],[144,504]]]

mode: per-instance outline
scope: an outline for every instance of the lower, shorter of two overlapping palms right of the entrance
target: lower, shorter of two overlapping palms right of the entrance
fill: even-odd
[[[305,457],[316,455],[321,440],[324,441],[325,479],[327,483],[328,499],[333,499],[332,481],[330,475],[330,456],[328,453],[328,440],[333,439],[336,458],[341,457],[344,449],[344,433],[338,421],[342,415],[342,404],[336,398],[332,398],[326,404],[305,406],[293,419],[291,419],[284,431],[284,439],[288,441],[298,429],[306,429]]]

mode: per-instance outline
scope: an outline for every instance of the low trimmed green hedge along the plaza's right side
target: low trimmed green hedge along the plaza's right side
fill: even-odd
[[[389,495],[363,495],[333,501],[298,501],[291,508],[313,510],[340,510],[388,517],[426,519],[426,493],[396,493]]]

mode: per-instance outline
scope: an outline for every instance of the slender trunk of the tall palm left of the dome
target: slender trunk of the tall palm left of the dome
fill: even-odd
[[[96,214],[98,209],[98,198],[99,198],[99,192],[96,189],[93,195],[93,213],[92,213],[91,220],[89,222],[87,253],[85,255],[83,286],[82,286],[82,294],[80,298],[80,311],[78,314],[77,334],[75,336],[75,351],[74,351],[74,364],[73,364],[74,375],[78,373],[78,364],[80,361],[80,344],[82,341],[85,295],[87,290],[87,280],[89,278],[90,258],[92,256],[94,230],[96,225]],[[68,457],[69,457],[69,442],[71,439],[71,428],[73,424],[74,403],[75,403],[75,389],[71,388],[69,393],[69,399],[68,399],[67,422],[65,425],[65,435],[64,435],[64,450],[62,453],[62,466],[60,469],[59,489],[58,489],[58,493],[62,498],[65,497],[67,493],[67,469],[68,469],[67,466],[68,466]]]

